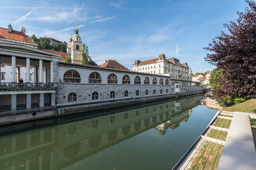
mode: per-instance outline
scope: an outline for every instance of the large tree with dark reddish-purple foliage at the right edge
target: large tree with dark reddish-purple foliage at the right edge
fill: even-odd
[[[236,22],[225,24],[228,33],[209,43],[205,60],[221,69],[220,86],[213,90],[220,101],[236,97],[256,97],[256,3],[246,0],[249,7],[237,11]]]

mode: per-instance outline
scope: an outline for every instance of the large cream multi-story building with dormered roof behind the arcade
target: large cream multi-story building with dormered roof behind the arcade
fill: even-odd
[[[174,57],[172,59],[166,59],[164,54],[160,54],[156,59],[135,60],[132,71],[168,75],[175,80],[192,80],[192,71],[188,63],[184,62],[180,64],[179,59],[175,59]]]

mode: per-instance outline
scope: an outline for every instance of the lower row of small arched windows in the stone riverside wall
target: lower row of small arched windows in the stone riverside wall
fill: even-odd
[[[165,92],[168,93],[168,89],[166,89]],[[135,93],[135,96],[140,96],[140,94],[142,92],[140,92],[140,90],[136,90],[134,93]],[[163,89],[160,89],[159,93],[163,94]],[[117,93],[115,91],[111,91],[108,95],[109,95],[109,98],[115,98],[116,94]],[[123,94],[124,94],[124,97],[129,97],[129,94],[131,94],[131,92],[129,93],[128,90],[125,90]],[[150,91],[145,90],[145,95],[147,96],[149,94],[150,94]],[[152,94],[156,94],[156,89],[152,90]],[[98,92],[93,92],[92,93],[92,100],[96,100],[96,99],[99,99],[99,93]],[[68,102],[76,102],[76,101],[77,101],[77,94],[76,93],[71,92],[70,94],[68,94]]]

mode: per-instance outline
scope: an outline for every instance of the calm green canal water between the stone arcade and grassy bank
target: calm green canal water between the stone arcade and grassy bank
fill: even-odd
[[[216,113],[204,103],[193,96],[3,126],[0,169],[172,169]]]

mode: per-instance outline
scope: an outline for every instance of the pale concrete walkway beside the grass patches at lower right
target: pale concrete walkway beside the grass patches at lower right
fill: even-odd
[[[249,115],[251,113],[234,113],[218,169],[256,169],[256,152]]]

